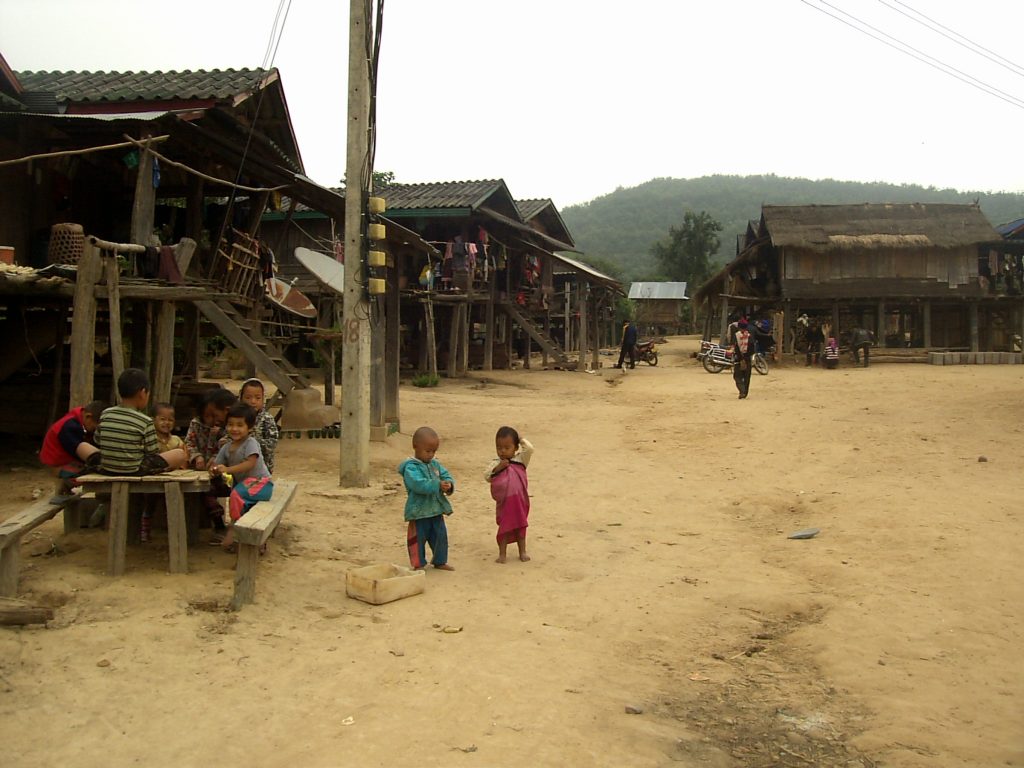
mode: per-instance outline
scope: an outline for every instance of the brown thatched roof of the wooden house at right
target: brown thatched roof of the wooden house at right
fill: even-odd
[[[999,238],[981,209],[951,204],[764,206],[772,245],[835,249],[956,248]]]

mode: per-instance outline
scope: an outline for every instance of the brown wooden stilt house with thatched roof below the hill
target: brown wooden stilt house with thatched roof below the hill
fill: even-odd
[[[730,312],[774,308],[837,334],[873,328],[890,345],[1007,348],[1024,322],[1013,298],[1024,273],[998,242],[976,205],[764,206],[694,298],[723,326]]]

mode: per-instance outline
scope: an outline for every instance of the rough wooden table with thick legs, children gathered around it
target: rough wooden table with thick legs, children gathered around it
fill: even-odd
[[[125,572],[125,549],[128,546],[128,498],[132,494],[163,494],[167,503],[167,540],[170,571],[188,572],[188,532],[185,524],[185,494],[210,489],[210,474],[195,469],[177,469],[160,475],[121,477],[81,475],[78,481],[97,496],[110,494],[110,532],[106,547],[106,572]]]

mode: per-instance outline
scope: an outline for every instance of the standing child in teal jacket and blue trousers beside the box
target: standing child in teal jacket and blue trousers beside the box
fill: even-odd
[[[432,564],[440,570],[455,570],[447,561],[447,528],[444,516],[452,514],[447,497],[455,493],[455,479],[434,458],[440,438],[430,427],[413,433],[414,458],[398,465],[406,483],[406,520],[409,561],[417,570],[427,565],[426,545],[430,545]]]

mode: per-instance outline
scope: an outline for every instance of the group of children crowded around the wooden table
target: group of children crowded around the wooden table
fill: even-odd
[[[106,408],[95,400],[73,409],[54,423],[43,439],[39,458],[54,467],[60,494],[70,494],[75,477],[98,472],[120,477],[154,475],[175,469],[206,470],[212,478],[205,496],[214,537],[211,544],[232,549],[231,528],[224,521],[219,499],[228,498],[231,523],[273,493],[274,449],[281,433],[264,403],[259,379],[249,379],[238,396],[211,389],[182,439],[173,433],[174,407],[150,404],[150,379],[144,371],[127,369],[118,377],[121,404]],[[151,514],[142,514],[140,538],[150,540]]]

